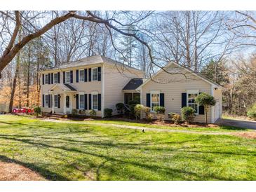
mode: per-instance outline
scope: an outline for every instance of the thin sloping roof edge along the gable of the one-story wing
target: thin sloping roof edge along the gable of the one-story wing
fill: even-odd
[[[176,65],[177,67],[180,67],[182,69],[185,69],[186,71],[189,71],[191,74],[194,74],[196,76],[198,76],[198,78],[201,78],[203,81],[206,81],[207,83],[210,83],[210,85],[214,85],[215,87],[217,88],[223,88],[221,85],[211,81],[210,79],[206,78],[205,76],[189,69],[188,67],[184,67],[180,64],[177,64],[175,62],[169,62],[168,64],[166,64],[166,66],[164,66],[163,68],[167,68],[167,67],[170,67],[171,65]],[[160,69],[159,71],[157,71],[156,74],[154,74],[154,76],[152,78],[154,78],[155,76],[158,76],[161,72],[163,72],[163,69]],[[145,81],[142,85],[140,85],[137,89],[140,89],[142,86],[144,86],[145,84],[147,84],[149,81],[151,81],[151,78],[148,78],[147,81]]]

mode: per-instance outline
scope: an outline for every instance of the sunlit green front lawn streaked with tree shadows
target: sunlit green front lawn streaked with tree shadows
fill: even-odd
[[[255,180],[256,140],[5,115],[0,160],[50,180]]]

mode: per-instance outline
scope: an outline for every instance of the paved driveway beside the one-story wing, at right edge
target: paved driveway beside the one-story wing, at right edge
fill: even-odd
[[[234,127],[237,127],[237,128],[248,128],[248,129],[256,130],[256,121],[222,118],[222,119],[219,119],[216,122],[216,124],[234,126]]]

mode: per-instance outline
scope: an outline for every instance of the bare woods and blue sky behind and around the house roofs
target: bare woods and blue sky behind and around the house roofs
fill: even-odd
[[[39,71],[105,55],[151,76],[175,61],[224,89],[224,110],[256,102],[256,16],[239,11],[1,11],[0,104],[40,104]]]

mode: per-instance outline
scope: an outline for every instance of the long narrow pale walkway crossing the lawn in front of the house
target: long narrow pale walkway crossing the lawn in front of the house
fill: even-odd
[[[58,123],[85,124],[85,125],[100,125],[100,126],[105,126],[105,127],[125,128],[125,129],[144,130],[144,131],[156,131],[156,132],[184,132],[184,133],[193,133],[193,134],[201,134],[201,135],[233,135],[234,134],[234,132],[206,132],[206,131],[203,132],[203,131],[192,131],[192,130],[168,130],[168,129],[159,129],[159,128],[131,126],[131,125],[94,123],[93,121],[73,122],[73,121],[55,120],[55,119],[44,119],[43,121],[58,122]]]

